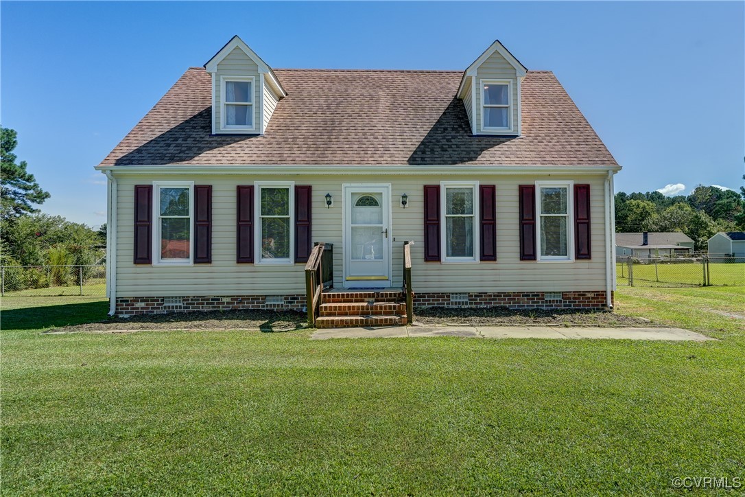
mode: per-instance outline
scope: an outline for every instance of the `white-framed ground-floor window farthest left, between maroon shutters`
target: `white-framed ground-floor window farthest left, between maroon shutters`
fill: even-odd
[[[153,264],[191,265],[194,183],[153,182]]]

